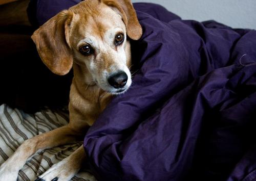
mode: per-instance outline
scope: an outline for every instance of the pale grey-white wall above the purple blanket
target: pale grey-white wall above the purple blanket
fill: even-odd
[[[182,19],[214,19],[232,28],[256,30],[256,0],[132,0],[164,6]]]

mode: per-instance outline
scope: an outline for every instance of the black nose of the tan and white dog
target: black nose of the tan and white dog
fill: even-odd
[[[127,83],[128,76],[124,71],[120,71],[109,77],[110,85],[116,89],[122,88]]]

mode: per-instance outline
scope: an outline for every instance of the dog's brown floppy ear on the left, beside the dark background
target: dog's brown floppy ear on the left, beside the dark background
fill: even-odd
[[[46,66],[58,75],[67,74],[73,65],[69,42],[74,13],[64,10],[49,19],[32,35],[37,51]]]

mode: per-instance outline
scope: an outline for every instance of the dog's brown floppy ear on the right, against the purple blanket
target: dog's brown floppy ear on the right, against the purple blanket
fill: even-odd
[[[123,22],[126,26],[127,35],[131,39],[140,39],[142,28],[131,0],[102,0],[102,2],[110,7],[116,8],[121,13]]]

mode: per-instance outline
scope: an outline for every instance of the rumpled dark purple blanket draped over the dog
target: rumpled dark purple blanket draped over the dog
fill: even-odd
[[[39,23],[50,18],[42,2]],[[255,180],[256,31],[134,6],[139,70],[84,138],[98,179]]]

